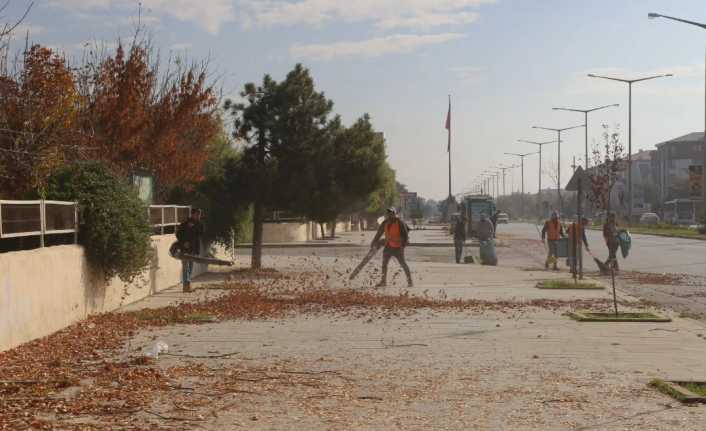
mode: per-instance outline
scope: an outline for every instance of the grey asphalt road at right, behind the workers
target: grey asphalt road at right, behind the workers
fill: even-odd
[[[538,231],[539,229],[539,231]],[[538,239],[541,227],[525,223],[500,225],[500,234],[515,238]],[[587,231],[588,245],[599,259],[608,257],[600,231]],[[667,238],[652,235],[632,235],[632,248],[627,260],[620,258],[624,270],[676,273],[706,277],[706,241]]]

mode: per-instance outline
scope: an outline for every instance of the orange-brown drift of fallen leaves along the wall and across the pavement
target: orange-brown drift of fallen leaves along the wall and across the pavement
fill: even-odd
[[[184,407],[188,400],[179,397],[171,396],[170,399],[182,407],[182,411],[177,412],[180,415],[151,410],[165,393],[189,392],[188,389],[179,389],[181,386],[176,377],[183,378],[191,373],[205,381],[205,377],[213,376],[214,372],[198,367],[164,370],[142,353],[124,351],[130,337],[150,327],[205,324],[215,319],[282,318],[301,313],[364,318],[399,316],[418,310],[513,312],[540,308],[562,311],[607,309],[610,306],[607,300],[491,302],[415,296],[407,292],[384,294],[349,288],[332,289],[326,287],[327,278],[320,274],[263,278],[273,274],[276,275],[261,272],[258,274],[261,278],[256,281],[228,282],[225,293],[216,299],[92,316],[49,337],[0,353],[0,429],[177,429],[174,422],[198,420],[184,416],[189,413],[188,407]],[[121,356],[122,359],[116,359]],[[126,356],[129,359],[126,360]],[[311,375],[290,375],[284,369],[277,373],[257,374],[244,370],[230,380],[223,380],[222,373],[216,373],[222,382],[214,384],[211,390],[275,390],[271,385],[243,388],[238,382],[317,384],[311,380]],[[284,376],[288,378],[284,379]],[[169,427],[160,428],[165,421]]]

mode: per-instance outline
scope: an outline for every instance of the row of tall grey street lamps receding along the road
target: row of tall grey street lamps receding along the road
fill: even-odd
[[[691,24],[695,25],[697,27],[706,29],[706,24],[701,24],[697,23],[694,21],[689,21],[685,19],[680,19],[680,18],[674,18],[666,15],[661,15],[661,14],[656,14],[656,13],[650,13],[648,14],[648,18],[653,19],[653,18],[666,18],[674,21],[679,21],[682,23],[686,24]],[[706,69],[705,69],[706,70]],[[628,219],[632,219],[632,210],[633,210],[633,191],[632,191],[632,85],[635,83],[643,82],[643,81],[649,81],[653,79],[658,79],[658,78],[666,78],[666,77],[671,77],[673,76],[671,73],[667,74],[661,74],[661,75],[653,75],[653,76],[647,76],[644,78],[638,78],[638,79],[625,79],[625,78],[619,78],[619,77],[613,77],[613,76],[603,76],[603,75],[596,75],[596,74],[588,74],[588,77],[590,78],[597,78],[597,79],[606,79],[610,81],[616,81],[616,82],[621,82],[624,84],[628,85],[628,178],[627,178],[627,183],[628,183]],[[528,140],[519,140],[519,142],[527,143],[527,144],[532,144],[532,145],[537,145],[539,147],[539,151],[533,152],[533,153],[505,153],[506,155],[513,156],[513,157],[519,157],[520,158],[520,167],[522,169],[522,195],[524,196],[525,194],[525,169],[524,169],[524,164],[525,164],[525,157],[532,156],[535,154],[539,154],[539,193],[541,194],[542,192],[542,147],[544,145],[549,145],[556,143],[557,144],[557,194],[559,197],[559,205],[562,205],[562,200],[561,200],[561,134],[562,132],[566,132],[569,130],[573,129],[578,129],[583,127],[585,131],[585,142],[584,142],[584,166],[586,169],[590,167],[590,159],[588,156],[588,114],[596,111],[600,111],[603,109],[608,109],[608,108],[614,108],[614,107],[619,107],[620,105],[617,103],[611,104],[611,105],[604,105],[604,106],[598,106],[590,109],[576,109],[576,108],[552,108],[555,111],[568,111],[568,112],[577,112],[577,113],[582,113],[584,114],[584,124],[572,126],[572,127],[564,127],[564,128],[551,128],[551,127],[544,127],[544,126],[532,126],[533,129],[539,129],[539,130],[546,130],[550,132],[554,132],[557,134],[557,139],[555,141],[547,141],[547,142],[535,142],[535,141],[528,141]],[[705,108],[705,113],[706,113],[706,108]],[[704,178],[703,178],[703,196],[704,196],[704,202],[706,202],[706,120],[704,123]],[[513,166],[516,167],[516,166]],[[500,168],[500,167],[497,167]],[[504,177],[505,177],[505,171],[509,169],[510,167],[504,167],[500,168],[503,169],[503,194],[505,194],[505,187],[504,187]],[[494,177],[496,181],[496,196],[498,195],[498,175],[499,172],[497,171],[484,171],[481,176],[479,177],[479,180],[482,182],[483,186],[480,187],[481,191],[483,188],[485,188],[486,191],[488,191],[491,187],[491,179]],[[476,184],[476,188],[478,188],[478,184]],[[524,200],[523,200],[524,204]],[[563,209],[563,208],[562,208]],[[524,208],[522,209],[524,212]]]

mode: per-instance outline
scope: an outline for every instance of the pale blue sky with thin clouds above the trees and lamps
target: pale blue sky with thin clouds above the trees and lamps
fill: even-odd
[[[28,4],[11,0],[3,18]],[[703,0],[36,0],[18,39],[29,32],[80,58],[87,44],[129,38],[139,16],[163,56],[208,58],[226,95],[303,63],[345,122],[371,115],[400,182],[443,199],[449,95],[454,194],[483,171],[519,163],[506,152],[536,151],[518,139],[556,139],[533,125],[583,124],[583,114],[552,107],[619,103],[591,114],[589,145],[605,124],[627,147],[627,85],[588,73],[674,74],[633,86],[633,153],[703,131],[706,30],[648,12],[706,23]],[[582,129],[562,136],[563,184],[573,157],[582,163],[584,139]],[[547,186],[557,146],[543,151]],[[538,179],[538,158],[528,156],[525,191],[536,192]],[[505,188],[519,190],[520,169],[507,171]]]

